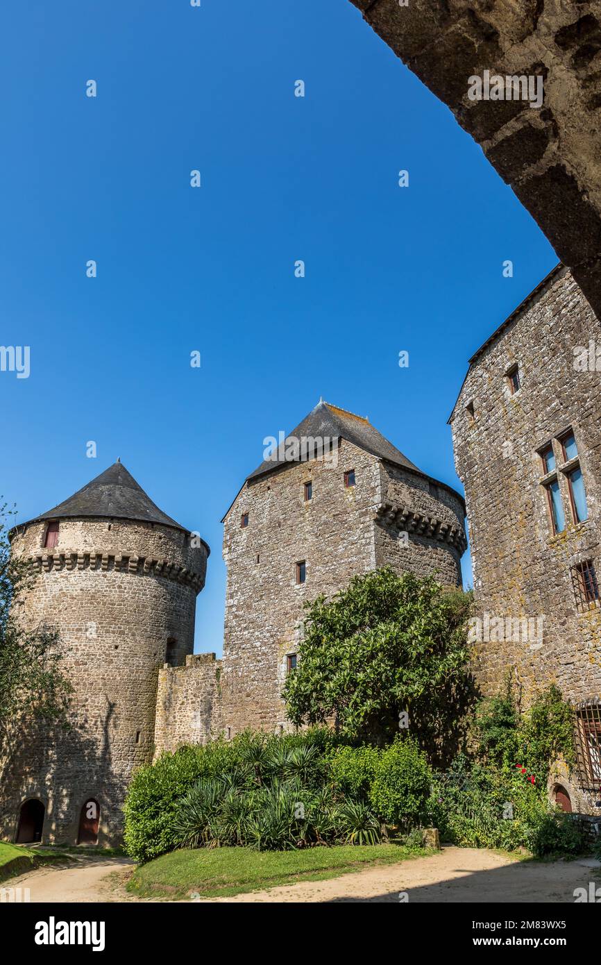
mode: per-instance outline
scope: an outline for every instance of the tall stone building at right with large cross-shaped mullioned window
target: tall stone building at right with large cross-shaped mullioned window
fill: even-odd
[[[480,686],[509,672],[527,705],[556,682],[579,762],[556,797],[601,793],[601,329],[558,265],[470,359],[451,414],[465,486]],[[599,810],[598,808],[596,810]]]

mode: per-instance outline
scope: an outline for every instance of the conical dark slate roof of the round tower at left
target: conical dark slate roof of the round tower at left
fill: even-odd
[[[78,489],[64,503],[37,516],[39,519],[61,519],[66,516],[101,516],[113,519],[141,519],[147,523],[174,526],[188,531],[152,502],[141,485],[118,460],[95,480]]]

